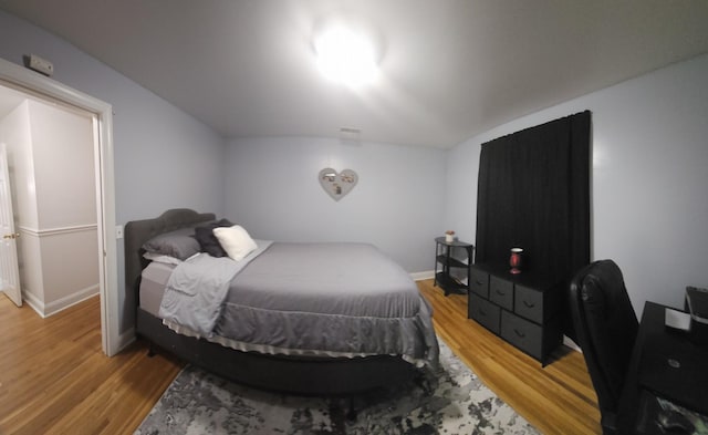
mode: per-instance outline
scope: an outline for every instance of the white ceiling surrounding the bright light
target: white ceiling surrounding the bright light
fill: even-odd
[[[706,0],[0,0],[225,137],[340,135],[454,146],[708,52]],[[315,66],[313,29],[374,28],[379,80]],[[55,66],[52,53],[35,53]]]

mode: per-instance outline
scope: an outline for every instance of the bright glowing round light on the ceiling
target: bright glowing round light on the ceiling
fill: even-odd
[[[314,49],[320,71],[331,80],[360,86],[376,79],[376,48],[363,31],[331,24],[315,35]]]

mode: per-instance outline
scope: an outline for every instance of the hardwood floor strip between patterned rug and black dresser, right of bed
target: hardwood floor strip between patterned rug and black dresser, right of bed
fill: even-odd
[[[433,304],[440,339],[475,373],[543,434],[602,434],[597,396],[580,352],[560,346],[545,367],[467,319],[467,296],[418,281]]]

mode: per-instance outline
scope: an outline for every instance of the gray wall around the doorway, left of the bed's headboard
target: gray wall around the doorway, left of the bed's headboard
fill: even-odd
[[[116,222],[174,207],[223,211],[225,141],[194,117],[73,45],[0,11],[0,58],[34,53],[54,63],[52,79],[113,105]],[[118,240],[121,331],[133,325]]]

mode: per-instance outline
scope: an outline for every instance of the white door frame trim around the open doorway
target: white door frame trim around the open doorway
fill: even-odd
[[[50,77],[0,58],[0,82],[21,92],[60,101],[94,115],[96,211],[98,226],[98,287],[101,293],[101,343],[115,355],[123,343],[118,324],[118,273],[115,237],[115,179],[113,163],[113,107],[111,104],[69,87]]]

